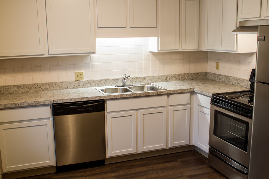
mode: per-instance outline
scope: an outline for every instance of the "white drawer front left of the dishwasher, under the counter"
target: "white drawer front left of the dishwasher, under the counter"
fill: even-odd
[[[23,107],[0,110],[1,121],[23,121],[30,119],[51,118],[50,106]]]

